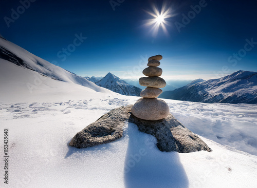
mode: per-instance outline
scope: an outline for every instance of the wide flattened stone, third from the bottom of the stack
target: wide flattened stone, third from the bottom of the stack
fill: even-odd
[[[145,87],[164,88],[166,86],[166,81],[158,76],[141,77],[139,78],[139,84]]]

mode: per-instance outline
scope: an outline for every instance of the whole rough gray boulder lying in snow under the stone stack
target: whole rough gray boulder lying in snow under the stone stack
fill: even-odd
[[[78,132],[69,145],[87,148],[108,143],[121,138],[125,121],[135,123],[139,131],[151,134],[157,139],[157,148],[163,152],[189,153],[205,150],[211,152],[208,145],[196,134],[188,130],[172,114],[156,120],[142,120],[131,114],[132,105],[113,109],[96,122]]]

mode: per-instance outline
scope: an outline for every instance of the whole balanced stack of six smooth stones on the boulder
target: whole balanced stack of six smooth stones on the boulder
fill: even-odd
[[[144,120],[159,120],[166,118],[169,113],[169,106],[167,103],[158,97],[162,90],[166,86],[166,81],[159,76],[162,74],[162,69],[158,68],[161,55],[155,55],[148,59],[148,68],[143,70],[143,74],[148,77],[142,77],[139,79],[139,84],[145,86],[141,91],[140,98],[132,107],[131,112],[134,116]]]

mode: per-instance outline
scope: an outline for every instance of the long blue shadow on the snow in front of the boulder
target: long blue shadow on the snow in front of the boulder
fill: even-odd
[[[189,186],[189,180],[177,152],[161,152],[156,138],[138,131],[129,122],[129,137],[124,163],[126,188],[181,187]]]

